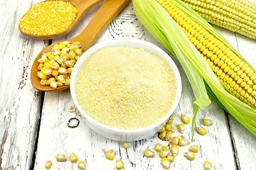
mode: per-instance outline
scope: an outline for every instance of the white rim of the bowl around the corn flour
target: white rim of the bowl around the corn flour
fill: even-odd
[[[135,48],[141,48],[147,52],[150,52],[153,55],[156,55],[157,57],[161,58],[166,62],[169,67],[171,64],[171,70],[174,74],[175,80],[176,80],[176,96],[174,99],[174,103],[172,104],[170,110],[166,115],[164,115],[161,120],[158,120],[156,123],[153,123],[151,125],[148,125],[144,128],[138,128],[138,129],[129,129],[129,130],[124,130],[124,129],[117,129],[117,128],[112,128],[108,125],[104,125],[102,123],[97,122],[97,120],[94,120],[93,118],[90,118],[89,115],[87,115],[84,111],[82,111],[82,108],[78,104],[76,95],[75,95],[75,80],[78,75],[78,72],[80,71],[80,68],[84,64],[84,62],[95,52],[97,52],[100,49],[103,49],[105,47],[135,47]],[[163,59],[164,57],[164,59]],[[110,130],[114,133],[122,133],[122,134],[137,134],[137,133],[142,133],[145,132],[146,130],[152,130],[156,127],[159,127],[159,125],[164,125],[166,121],[169,119],[172,113],[176,110],[176,107],[178,106],[178,102],[180,101],[181,98],[181,89],[182,89],[182,84],[181,84],[181,75],[178,71],[178,67],[176,66],[174,60],[171,59],[171,57],[164,52],[160,47],[152,44],[151,42],[147,42],[145,40],[139,40],[137,38],[113,38],[111,40],[104,40],[102,42],[99,42],[92,47],[90,47],[88,50],[86,50],[79,58],[78,62],[76,62],[75,67],[73,67],[73,72],[70,77],[70,94],[73,99],[73,102],[75,103],[75,106],[78,108],[78,111],[85,117],[85,121],[89,120],[91,123],[96,124],[97,126],[100,126],[100,128],[105,129],[105,130]],[[89,124],[91,124],[89,123]]]

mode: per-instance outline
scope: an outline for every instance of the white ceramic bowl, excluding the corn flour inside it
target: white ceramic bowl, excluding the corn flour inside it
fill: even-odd
[[[136,130],[121,130],[117,128],[111,128],[110,126],[103,125],[102,123],[98,123],[96,120],[93,120],[92,118],[90,118],[89,115],[82,111],[82,108],[80,108],[77,98],[75,96],[75,79],[78,76],[78,72],[80,71],[82,65],[85,63],[88,57],[90,57],[102,48],[120,46],[142,48],[148,52],[151,52],[151,54],[156,55],[160,57],[162,60],[164,60],[169,65],[171,70],[174,72],[174,77],[176,79],[176,98],[174,100],[173,105],[171,106],[170,111],[164,116],[164,118],[145,128],[140,128]],[[176,109],[178,101],[181,97],[181,76],[178,72],[176,64],[174,63],[173,60],[171,60],[171,57],[169,57],[169,55],[167,55],[166,52],[164,52],[164,50],[161,50],[161,48],[157,47],[156,45],[153,45],[150,42],[146,42],[144,40],[138,40],[134,38],[113,39],[107,40],[105,42],[100,42],[90,47],[89,50],[82,54],[78,62],[75,64],[75,67],[73,68],[73,72],[71,74],[70,93],[75,103],[75,106],[78,108],[78,111],[80,111],[80,113],[85,117],[87,125],[89,125],[90,128],[92,128],[92,130],[95,130],[100,135],[110,138],[112,140],[129,142],[134,140],[142,140],[146,137],[150,137],[163,127],[163,125],[171,116],[171,113],[173,113],[174,110]]]

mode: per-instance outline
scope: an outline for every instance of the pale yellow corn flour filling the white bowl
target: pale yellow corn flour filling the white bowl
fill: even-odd
[[[176,81],[168,64],[145,50],[106,47],[78,72],[75,95],[90,118],[131,130],[156,123],[170,111]]]

